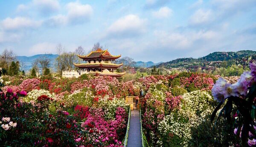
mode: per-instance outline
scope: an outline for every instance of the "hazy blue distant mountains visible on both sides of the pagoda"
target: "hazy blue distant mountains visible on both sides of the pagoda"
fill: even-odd
[[[35,61],[35,59],[40,58],[42,56],[47,56],[47,58],[49,58],[51,60],[51,68],[55,69],[54,61],[55,61],[55,58],[58,57],[58,55],[55,55],[55,54],[38,54],[38,55],[30,56],[30,57],[17,56],[17,60],[24,63],[25,66],[23,67],[23,70],[28,71],[29,69],[32,68],[32,62]],[[163,62],[160,62],[160,63],[163,63]],[[135,67],[148,68],[148,67],[151,67],[151,66],[158,65],[160,63],[154,63],[152,61],[149,61],[149,62],[138,61],[138,62],[136,62]]]

